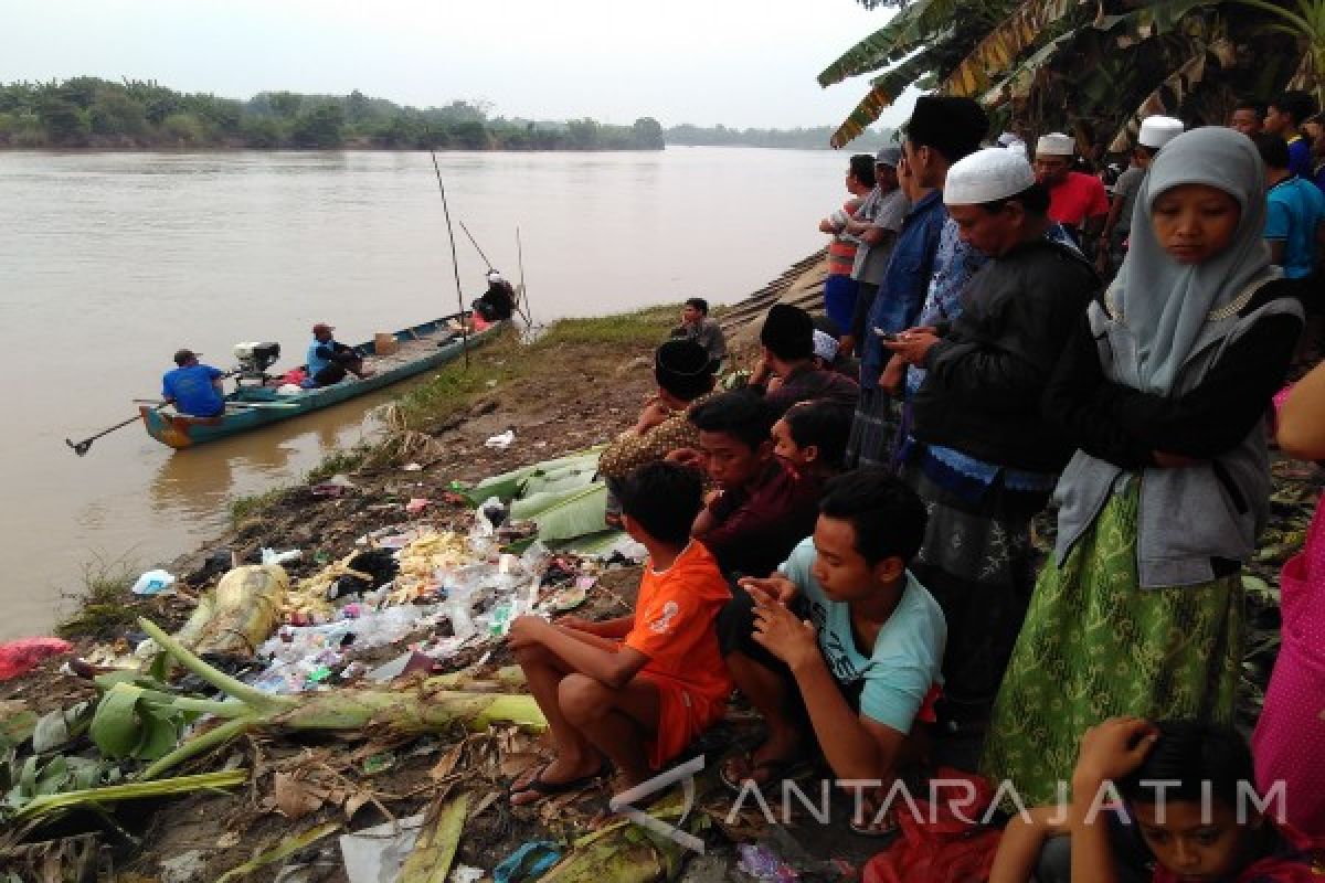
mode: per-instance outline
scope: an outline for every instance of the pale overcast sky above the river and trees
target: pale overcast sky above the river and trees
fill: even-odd
[[[227,98],[478,99],[494,116],[835,126],[868,78],[815,77],[890,15],[855,0],[0,0],[0,82],[86,74]]]

